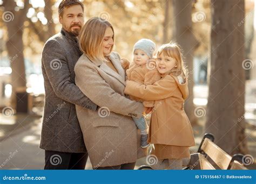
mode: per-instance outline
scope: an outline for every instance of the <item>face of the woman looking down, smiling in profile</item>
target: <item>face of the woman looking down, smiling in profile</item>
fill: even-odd
[[[113,35],[114,35],[114,33],[113,33],[111,27],[107,27],[104,37],[103,37],[103,43],[102,43],[104,56],[109,55],[111,52],[111,47],[114,44]]]

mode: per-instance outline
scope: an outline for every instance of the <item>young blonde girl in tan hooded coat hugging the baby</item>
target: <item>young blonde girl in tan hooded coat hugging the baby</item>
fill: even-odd
[[[149,142],[151,154],[158,158],[153,168],[181,169],[190,159],[189,147],[194,146],[193,131],[184,111],[188,96],[187,76],[180,47],[162,45],[157,52],[157,70],[161,79],[153,85],[126,81],[125,94],[155,101],[151,116]],[[188,164],[188,163],[186,163]]]

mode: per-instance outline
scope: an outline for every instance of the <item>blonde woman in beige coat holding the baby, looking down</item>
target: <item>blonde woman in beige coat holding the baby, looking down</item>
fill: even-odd
[[[146,108],[125,96],[125,71],[113,45],[109,22],[97,17],[86,22],[79,36],[83,55],[75,66],[75,81],[99,108],[76,105],[76,111],[93,169],[133,169],[145,156],[132,117],[142,117]]]

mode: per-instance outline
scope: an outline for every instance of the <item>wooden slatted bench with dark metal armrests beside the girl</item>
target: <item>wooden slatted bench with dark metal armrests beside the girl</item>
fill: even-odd
[[[206,133],[200,143],[197,153],[190,155],[190,163],[183,169],[247,169],[242,165],[244,155],[235,154],[231,157],[219,146],[213,143],[214,136]],[[152,169],[143,165],[138,169]]]

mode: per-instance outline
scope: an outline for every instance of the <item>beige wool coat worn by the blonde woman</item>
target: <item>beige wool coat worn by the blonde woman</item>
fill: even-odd
[[[124,94],[125,71],[120,56],[112,52],[110,60],[118,73],[103,61],[90,61],[85,54],[75,66],[75,82],[92,102],[93,111],[76,105],[92,167],[106,167],[136,162],[145,157],[140,135],[131,116],[141,117],[143,104]]]

